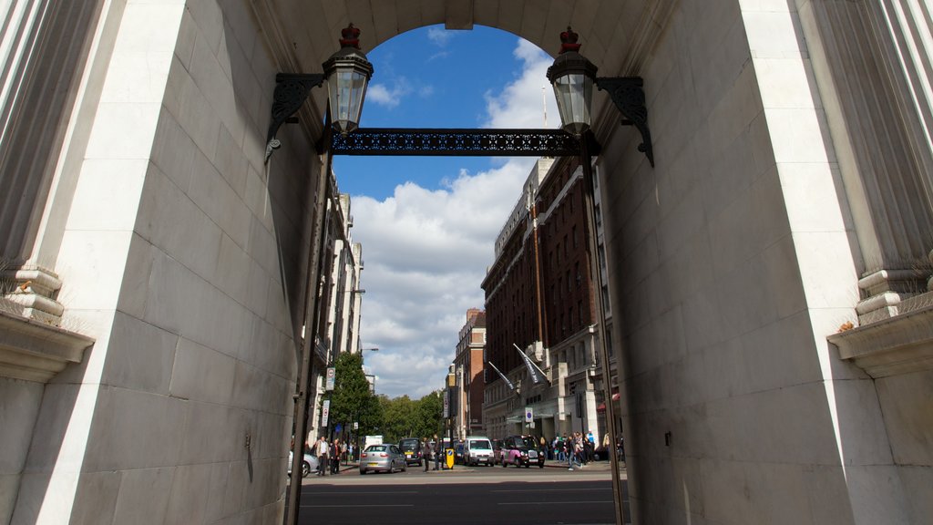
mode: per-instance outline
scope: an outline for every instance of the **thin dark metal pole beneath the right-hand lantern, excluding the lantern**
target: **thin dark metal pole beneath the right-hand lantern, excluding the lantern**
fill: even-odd
[[[595,285],[593,296],[596,304],[596,313],[599,316],[596,324],[599,332],[599,357],[600,361],[603,362],[603,389],[606,390],[606,430],[609,433],[609,443],[615,444],[616,410],[615,403],[612,401],[612,375],[609,370],[609,352],[606,348],[606,305],[603,304],[603,273],[600,271],[599,267],[599,251],[596,238],[596,211],[593,205],[593,192],[595,192],[595,190],[592,185],[592,159],[590,158],[590,149],[588,146],[588,135],[590,133],[591,132],[586,132],[580,135],[580,163],[583,164],[583,183],[586,185],[586,191],[583,192],[583,199],[585,200],[585,206],[583,207],[586,209],[587,227],[590,230],[587,248],[590,250],[590,276],[592,278],[592,283]],[[581,431],[582,425],[583,418],[581,417]],[[616,525],[623,525],[624,513],[622,507],[622,488],[619,478],[619,458],[617,458],[615,454],[609,454],[609,458],[612,463],[612,495],[616,504]]]

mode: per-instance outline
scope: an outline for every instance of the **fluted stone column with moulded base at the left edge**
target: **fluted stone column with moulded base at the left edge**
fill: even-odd
[[[7,298],[23,315],[49,324],[61,319],[62,283],[33,261],[33,244],[99,7],[15,0],[0,12],[0,277],[15,285]]]

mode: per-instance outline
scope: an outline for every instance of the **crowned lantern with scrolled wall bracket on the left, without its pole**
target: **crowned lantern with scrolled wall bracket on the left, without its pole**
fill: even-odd
[[[359,50],[359,29],[351,23],[341,31],[341,49],[322,64],[324,73],[279,73],[275,76],[272,122],[266,143],[266,162],[272,150],[282,143],[275,138],[279,127],[299,110],[312,88],[327,81],[327,121],[341,135],[359,126],[366,88],[372,78],[372,64]],[[325,134],[327,135],[325,130]],[[327,140],[329,142],[329,139]],[[325,142],[325,145],[327,145]]]

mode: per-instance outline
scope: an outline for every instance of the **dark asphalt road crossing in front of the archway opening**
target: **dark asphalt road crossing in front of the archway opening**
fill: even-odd
[[[627,499],[624,474],[622,488]],[[301,525],[615,523],[606,469],[458,467],[425,473],[412,466],[391,475],[348,470],[306,478],[301,494]]]

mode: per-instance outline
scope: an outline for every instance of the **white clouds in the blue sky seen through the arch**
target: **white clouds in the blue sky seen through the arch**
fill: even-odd
[[[487,93],[487,125],[540,127],[540,86],[550,58],[523,41],[515,56],[522,61],[516,79]],[[553,105],[550,88],[548,94]],[[549,124],[556,127],[551,111]],[[493,262],[495,237],[535,161],[508,159],[475,174],[460,170],[443,178],[440,190],[406,182],[383,201],[353,197],[354,238],[366,262],[360,336],[365,347],[380,348],[365,356],[377,392],[417,399],[442,386],[466,310],[483,307],[480,284]]]

